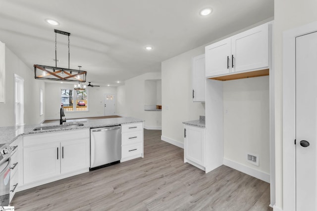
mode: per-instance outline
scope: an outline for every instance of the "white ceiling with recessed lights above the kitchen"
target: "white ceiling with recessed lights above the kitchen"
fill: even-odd
[[[211,15],[199,15],[205,7]],[[69,32],[70,69],[82,66],[92,84],[117,85],[273,15],[274,0],[0,0],[0,41],[33,70],[55,66],[53,30]],[[57,59],[57,67],[68,67],[60,34]]]

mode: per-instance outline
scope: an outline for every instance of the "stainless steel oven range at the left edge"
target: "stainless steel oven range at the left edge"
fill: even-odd
[[[10,145],[0,145],[0,206],[9,205],[11,151]]]

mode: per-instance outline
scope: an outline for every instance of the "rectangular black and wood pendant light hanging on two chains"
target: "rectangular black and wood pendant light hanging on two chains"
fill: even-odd
[[[55,32],[55,67],[46,65],[34,65],[34,78],[42,80],[65,81],[65,82],[86,82],[86,71],[69,69],[69,36],[70,33],[54,29]],[[57,67],[57,34],[68,36],[68,68]]]

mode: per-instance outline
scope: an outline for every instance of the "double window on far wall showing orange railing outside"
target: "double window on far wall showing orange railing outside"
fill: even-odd
[[[60,99],[64,111],[88,111],[87,90],[61,89]]]

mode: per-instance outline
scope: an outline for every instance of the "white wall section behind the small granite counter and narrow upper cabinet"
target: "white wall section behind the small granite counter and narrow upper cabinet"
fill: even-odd
[[[205,103],[193,102],[192,57],[205,53],[195,48],[162,62],[162,140],[182,147],[182,122],[205,115]]]

